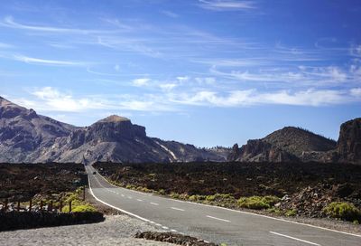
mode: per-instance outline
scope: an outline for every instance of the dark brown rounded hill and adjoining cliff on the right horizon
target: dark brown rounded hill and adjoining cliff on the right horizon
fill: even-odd
[[[287,127],[235,145],[228,156],[238,162],[343,162],[361,164],[361,118],[341,125],[338,142],[302,128]]]

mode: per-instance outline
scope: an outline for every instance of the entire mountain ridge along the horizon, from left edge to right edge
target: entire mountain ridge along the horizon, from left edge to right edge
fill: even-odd
[[[111,115],[85,128],[38,115],[0,97],[0,162],[350,162],[361,164],[361,118],[341,125],[338,142],[286,127],[232,149],[198,148],[148,137],[129,118]]]

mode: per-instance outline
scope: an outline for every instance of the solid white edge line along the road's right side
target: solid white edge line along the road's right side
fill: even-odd
[[[103,176],[100,175],[100,174],[98,174],[98,175],[99,175],[100,177],[102,177],[108,184],[110,184],[110,183],[106,180],[105,177],[103,177]],[[113,184],[110,184],[110,185],[113,185]],[[113,185],[113,186],[115,186],[115,187],[117,187],[117,188],[120,188],[120,189],[125,189],[125,188],[123,188],[123,187],[119,187],[119,186],[116,186],[116,185]],[[140,193],[140,194],[146,194],[146,193],[143,193],[143,192],[133,191],[133,190],[129,190],[129,189],[125,189],[125,190],[127,190],[127,191],[132,191],[132,192],[135,192],[135,193]],[[150,195],[153,195],[153,194],[150,194]],[[338,233],[342,233],[342,234],[345,234],[345,235],[349,235],[349,236],[354,236],[354,237],[361,238],[361,234],[354,234],[354,233],[349,233],[349,232],[341,232],[341,231],[338,231],[338,230],[329,229],[329,228],[325,228],[325,227],[320,227],[320,226],[312,225],[312,224],[308,224],[308,223],[292,222],[292,221],[288,221],[288,220],[285,220],[285,219],[274,218],[274,217],[267,216],[267,215],[264,215],[264,214],[250,213],[250,212],[239,211],[239,210],[234,210],[234,209],[230,209],[230,208],[218,207],[218,206],[208,205],[208,204],[202,204],[202,203],[192,203],[192,202],[188,202],[188,201],[180,201],[180,200],[172,199],[172,198],[164,198],[164,199],[169,199],[169,200],[172,200],[172,201],[175,201],[175,202],[178,202],[178,203],[191,203],[191,204],[196,204],[196,205],[199,205],[199,206],[213,207],[213,208],[223,209],[223,210],[232,211],[232,212],[236,212],[236,213],[245,213],[245,214],[249,214],[249,215],[254,215],[254,216],[259,216],[259,217],[268,218],[268,219],[275,220],[275,221],[289,222],[289,223],[294,223],[294,224],[300,224],[300,225],[303,225],[303,226],[309,226],[309,227],[317,228],[317,229],[320,229],[320,230],[325,230],[325,231],[329,231],[329,232],[338,232]]]

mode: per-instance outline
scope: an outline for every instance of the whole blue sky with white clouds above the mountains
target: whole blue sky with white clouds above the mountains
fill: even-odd
[[[360,1],[7,1],[0,91],[78,126],[245,144],[285,126],[338,138],[360,117]]]

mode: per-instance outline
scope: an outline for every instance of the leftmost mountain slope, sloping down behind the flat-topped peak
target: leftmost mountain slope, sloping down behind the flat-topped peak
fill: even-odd
[[[68,137],[73,129],[75,127],[0,98],[0,161],[40,159],[58,137]]]

